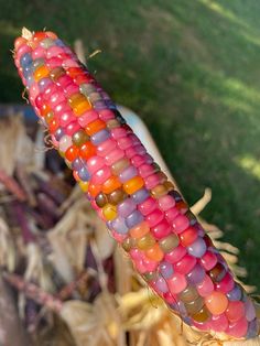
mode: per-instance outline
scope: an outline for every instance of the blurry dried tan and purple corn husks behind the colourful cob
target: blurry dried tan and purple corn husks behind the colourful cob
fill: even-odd
[[[1,314],[0,344],[219,345],[145,288],[63,160],[46,150],[39,126],[25,128],[21,115],[0,120],[0,304],[8,299],[12,311],[11,320]],[[206,190],[193,213],[210,196]],[[238,249],[218,240],[223,233],[216,226],[201,221],[243,277]]]

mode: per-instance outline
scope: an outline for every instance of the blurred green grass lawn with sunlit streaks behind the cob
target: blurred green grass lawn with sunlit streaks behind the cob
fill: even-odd
[[[90,69],[143,118],[191,204],[212,187],[203,216],[260,289],[260,1],[1,2],[0,101],[21,101],[9,51],[21,26],[100,48]]]

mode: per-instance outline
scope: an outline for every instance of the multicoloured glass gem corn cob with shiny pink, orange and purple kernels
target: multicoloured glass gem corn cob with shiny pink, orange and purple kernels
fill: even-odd
[[[137,271],[183,321],[252,338],[256,307],[115,104],[53,32],[21,36],[14,62],[52,142]]]

